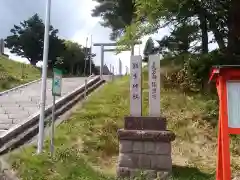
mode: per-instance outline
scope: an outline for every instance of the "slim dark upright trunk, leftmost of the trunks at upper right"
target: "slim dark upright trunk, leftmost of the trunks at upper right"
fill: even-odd
[[[207,17],[204,12],[199,14],[200,29],[202,31],[202,54],[208,53],[208,27],[207,27]]]

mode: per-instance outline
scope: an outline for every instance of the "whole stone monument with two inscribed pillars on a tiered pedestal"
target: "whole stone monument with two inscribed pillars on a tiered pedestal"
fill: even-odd
[[[117,176],[166,179],[172,170],[171,142],[175,134],[167,130],[166,118],[160,115],[160,57],[150,55],[149,116],[142,116],[142,57],[131,56],[130,116],[118,130],[119,158]]]

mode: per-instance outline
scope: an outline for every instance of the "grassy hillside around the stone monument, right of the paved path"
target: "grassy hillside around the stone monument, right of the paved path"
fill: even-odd
[[[148,109],[147,72],[144,72],[144,114]],[[162,88],[162,114],[176,133],[173,143],[174,180],[215,179],[217,142],[217,100],[201,94],[186,94]],[[116,132],[129,114],[129,79],[123,77],[93,93],[71,118],[56,130],[56,154],[35,155],[36,147],[22,148],[8,158],[25,180],[112,179],[118,155]],[[231,143],[232,167],[240,163],[239,141]],[[44,164],[44,166],[42,166]]]

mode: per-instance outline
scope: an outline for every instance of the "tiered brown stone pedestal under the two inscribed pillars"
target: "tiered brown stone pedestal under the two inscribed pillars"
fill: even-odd
[[[124,129],[118,130],[118,177],[139,173],[151,180],[166,179],[172,170],[171,141],[175,135],[165,130],[166,121],[154,117],[126,117]]]

